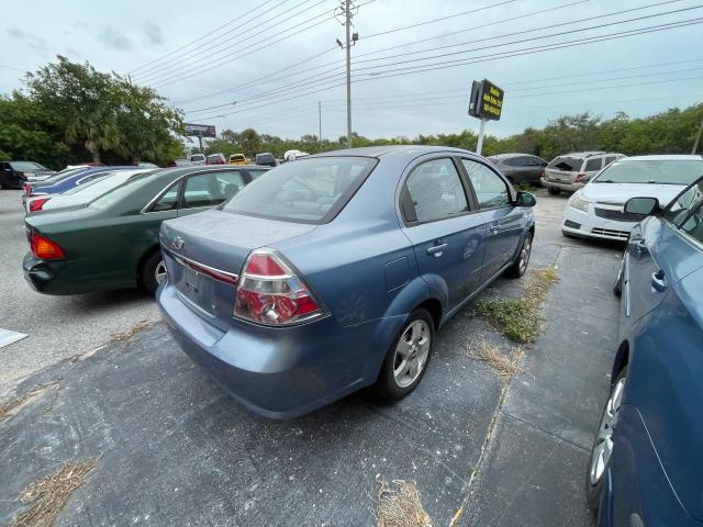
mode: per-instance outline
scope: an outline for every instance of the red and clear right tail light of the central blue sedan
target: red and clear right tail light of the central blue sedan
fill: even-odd
[[[324,309],[305,283],[270,249],[256,249],[239,277],[234,315],[284,326],[323,316]]]

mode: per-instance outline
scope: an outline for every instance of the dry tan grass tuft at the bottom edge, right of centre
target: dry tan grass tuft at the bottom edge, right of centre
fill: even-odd
[[[432,527],[429,515],[422,506],[417,484],[395,480],[393,485],[381,482],[376,515],[377,527]]]

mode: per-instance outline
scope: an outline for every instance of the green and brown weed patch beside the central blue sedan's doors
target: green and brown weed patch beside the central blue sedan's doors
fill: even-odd
[[[527,284],[520,298],[480,299],[476,304],[476,311],[511,340],[521,344],[532,343],[542,329],[539,306],[558,281],[559,276],[555,269],[535,269],[529,272]]]

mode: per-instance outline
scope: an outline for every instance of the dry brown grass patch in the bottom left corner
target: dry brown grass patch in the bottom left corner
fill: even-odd
[[[10,527],[51,527],[71,494],[78,489],[98,459],[64,463],[53,474],[30,483],[20,494],[20,502],[32,507],[12,520]]]

